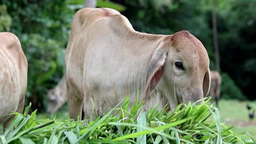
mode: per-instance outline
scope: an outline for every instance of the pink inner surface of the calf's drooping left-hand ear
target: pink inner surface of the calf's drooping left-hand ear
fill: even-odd
[[[160,67],[158,71],[156,71],[153,75],[153,77],[150,80],[149,87],[147,88],[146,95],[148,95],[158,84],[160,81],[161,77],[164,74],[164,67]]]

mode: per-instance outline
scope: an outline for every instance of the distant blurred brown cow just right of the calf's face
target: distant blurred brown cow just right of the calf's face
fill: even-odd
[[[210,91],[209,96],[211,96],[211,101],[216,101],[216,106],[219,105],[220,100],[220,89],[221,89],[221,76],[218,71],[211,70],[210,72],[211,77],[211,85],[210,85]]]

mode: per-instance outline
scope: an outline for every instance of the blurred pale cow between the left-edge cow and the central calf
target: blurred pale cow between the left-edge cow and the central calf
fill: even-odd
[[[48,107],[47,112],[56,113],[65,102],[67,102],[66,76],[63,76],[57,86],[50,89],[47,93]]]

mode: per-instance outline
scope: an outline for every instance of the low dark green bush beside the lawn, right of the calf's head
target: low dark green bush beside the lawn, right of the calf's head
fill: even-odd
[[[243,92],[237,87],[235,82],[227,73],[222,73],[221,96],[226,99],[245,100]]]

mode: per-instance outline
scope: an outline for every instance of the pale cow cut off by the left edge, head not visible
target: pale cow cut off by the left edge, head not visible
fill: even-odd
[[[10,124],[13,111],[22,113],[27,89],[27,59],[18,38],[0,33],[0,123]]]

